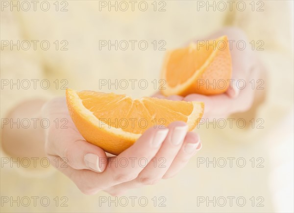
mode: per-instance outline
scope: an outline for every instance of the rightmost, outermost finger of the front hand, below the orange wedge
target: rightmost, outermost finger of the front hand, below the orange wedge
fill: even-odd
[[[163,178],[170,178],[183,169],[188,163],[189,159],[196,154],[202,147],[199,135],[195,132],[188,132],[183,146],[172,161],[169,170],[164,174]]]

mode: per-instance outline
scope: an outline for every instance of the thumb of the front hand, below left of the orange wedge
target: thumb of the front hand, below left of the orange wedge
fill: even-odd
[[[49,102],[49,105],[53,105],[55,108],[66,108],[64,98],[56,98]],[[49,109],[52,110],[52,108],[54,108],[53,106]],[[49,110],[44,110],[44,113],[48,113],[48,111]],[[52,118],[52,114],[49,115],[50,120],[55,119]],[[84,140],[74,126],[68,111],[62,115],[63,118],[68,121],[67,128],[49,128],[48,131],[46,131],[46,138],[48,138],[46,142],[46,150],[48,154],[54,156],[58,155],[61,158],[66,159],[67,164],[76,170],[88,169],[97,172],[103,171],[107,160],[103,149]],[[58,135],[58,137],[56,137],[56,135]],[[48,143],[48,141],[50,141],[50,143]],[[101,164],[101,162],[104,162],[104,164]]]

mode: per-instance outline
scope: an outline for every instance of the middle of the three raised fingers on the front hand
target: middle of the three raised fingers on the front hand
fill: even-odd
[[[169,134],[163,142],[161,148],[148,163],[147,167],[140,172],[138,177],[132,181],[128,181],[116,186],[113,186],[106,191],[110,194],[121,194],[122,192],[138,188],[142,185],[150,185],[162,179],[163,175],[172,165],[172,161],[181,149],[184,138],[187,134],[188,126],[184,122],[173,122],[168,127]]]

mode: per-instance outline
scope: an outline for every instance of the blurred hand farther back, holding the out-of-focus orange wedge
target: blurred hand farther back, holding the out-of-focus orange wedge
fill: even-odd
[[[251,50],[251,45],[247,42],[245,34],[243,31],[237,28],[224,28],[221,31],[211,35],[209,39],[216,39],[222,35],[227,35],[228,40],[233,40],[230,46],[231,56],[232,56],[232,79],[233,83],[230,88],[223,94],[220,95],[200,95],[200,94],[190,94],[186,97],[173,95],[170,97],[165,97],[156,93],[154,97],[158,98],[167,98],[171,100],[184,100],[184,101],[202,101],[205,104],[203,118],[213,119],[213,118],[226,118],[232,113],[244,112],[247,111],[253,103],[255,96],[255,89],[252,89],[250,81],[253,79],[255,82],[260,78],[262,71],[261,64],[258,63],[256,57]],[[240,44],[240,48],[236,43],[238,41],[244,41],[246,47],[244,50],[241,50],[243,46]],[[245,81],[245,87],[243,86],[242,81]],[[225,81],[227,81],[225,79]],[[239,88],[236,85],[236,82],[239,81]],[[228,82],[229,83],[229,82]]]

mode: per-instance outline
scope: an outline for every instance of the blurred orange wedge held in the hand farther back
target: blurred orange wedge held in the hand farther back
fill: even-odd
[[[186,96],[191,93],[215,95],[225,92],[232,75],[228,39],[198,41],[167,53],[161,78],[161,93]]]

